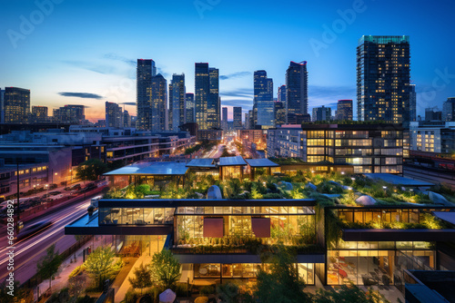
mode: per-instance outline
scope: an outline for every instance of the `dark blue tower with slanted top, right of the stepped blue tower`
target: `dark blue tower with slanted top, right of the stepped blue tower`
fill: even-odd
[[[286,122],[298,120],[295,115],[308,113],[307,62],[290,62],[286,71]]]

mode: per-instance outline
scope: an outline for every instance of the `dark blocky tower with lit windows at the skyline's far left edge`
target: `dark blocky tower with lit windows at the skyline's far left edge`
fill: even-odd
[[[26,123],[30,115],[30,90],[5,87],[1,108],[4,123]]]

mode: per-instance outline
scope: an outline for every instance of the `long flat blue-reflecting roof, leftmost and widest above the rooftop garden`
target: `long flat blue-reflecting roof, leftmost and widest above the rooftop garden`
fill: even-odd
[[[119,175],[148,175],[148,176],[176,176],[187,173],[185,162],[143,162],[127,165],[115,171],[105,173],[106,176]]]

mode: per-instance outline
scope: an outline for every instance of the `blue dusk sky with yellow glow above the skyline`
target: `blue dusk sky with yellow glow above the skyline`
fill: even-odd
[[[356,103],[362,34],[407,34],[421,113],[455,96],[454,11],[450,0],[2,0],[0,87],[30,89],[32,105],[85,104],[95,120],[105,101],[136,114],[137,58],[154,59],[168,81],[185,73],[187,92],[194,64],[208,62],[225,76],[222,105],[248,110],[255,70],[276,93],[289,61],[308,61],[311,109]]]

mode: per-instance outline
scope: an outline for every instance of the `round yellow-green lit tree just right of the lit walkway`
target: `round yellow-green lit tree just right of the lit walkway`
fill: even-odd
[[[149,269],[152,280],[164,288],[171,288],[180,279],[180,263],[169,249],[156,253]]]

